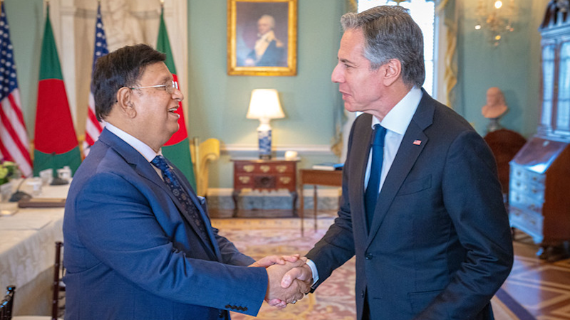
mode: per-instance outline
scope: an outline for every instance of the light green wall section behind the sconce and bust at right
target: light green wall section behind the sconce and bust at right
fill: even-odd
[[[489,87],[499,87],[509,112],[501,119],[507,129],[524,137],[536,133],[539,118],[541,18],[548,0],[516,1],[514,31],[494,47],[489,33],[476,31],[477,1],[463,1],[458,41],[457,111],[485,134],[488,119],[481,114]]]

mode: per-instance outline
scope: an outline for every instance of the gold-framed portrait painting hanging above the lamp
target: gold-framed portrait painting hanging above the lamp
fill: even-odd
[[[297,74],[297,0],[227,0],[227,73]]]

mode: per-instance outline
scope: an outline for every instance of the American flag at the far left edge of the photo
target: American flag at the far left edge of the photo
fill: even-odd
[[[0,159],[15,162],[22,175],[30,176],[28,133],[20,107],[16,64],[4,2],[0,10]]]

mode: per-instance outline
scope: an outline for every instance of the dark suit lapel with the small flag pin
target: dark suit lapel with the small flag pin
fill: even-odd
[[[376,233],[378,233],[380,225],[382,225],[402,183],[427,144],[428,137],[423,131],[432,124],[434,111],[435,105],[432,98],[423,90],[423,97],[420,105],[418,105],[418,110],[416,110],[404,134],[398,153],[378,195],[378,203],[376,204],[371,230],[368,235],[367,247],[373,241]]]

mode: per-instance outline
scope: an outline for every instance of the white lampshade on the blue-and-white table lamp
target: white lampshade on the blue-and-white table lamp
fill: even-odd
[[[275,89],[254,89],[249,100],[247,119],[278,119],[285,114],[279,102],[279,93]]]

